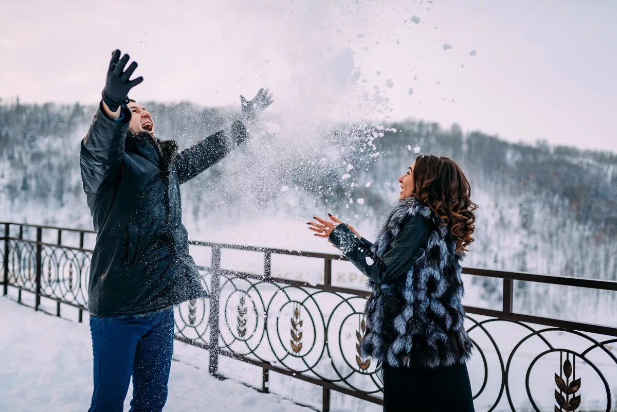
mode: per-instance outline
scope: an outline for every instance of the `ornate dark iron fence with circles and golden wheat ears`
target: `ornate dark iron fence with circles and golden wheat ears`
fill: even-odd
[[[4,243],[0,249],[3,293],[14,288],[18,300],[22,300],[22,292],[34,294],[35,310],[41,308],[41,298],[54,300],[57,316],[61,303],[70,305],[77,308],[81,321],[81,314],[87,310],[91,255],[85,237],[91,237],[89,244],[93,244],[94,233],[23,223],[0,225],[4,227],[4,236],[0,237]],[[73,237],[73,245],[64,241],[67,233]],[[359,352],[365,333],[363,307],[369,292],[333,282],[333,262],[344,258],[265,247],[189,243],[192,254],[209,258],[209,265],[199,268],[210,299],[193,300],[176,308],[175,337],[209,350],[211,374],[221,376],[218,360],[228,356],[262,369],[263,392],[269,391],[272,371],[319,385],[323,411],[329,410],[333,390],[383,404],[380,366],[362,358]],[[222,265],[224,254],[229,254],[229,263]],[[291,263],[292,271],[307,265],[307,259],[321,262],[321,280],[309,283],[287,279],[276,267],[273,272],[273,259],[282,265],[281,258],[302,259],[302,263]],[[259,261],[259,270],[255,270],[255,264],[248,265],[251,271],[228,267],[246,260]],[[470,371],[476,371],[472,384],[478,410],[494,411],[505,406],[517,411],[528,405],[535,411],[549,407],[555,411],[581,411],[583,407],[613,410],[617,326],[521,313],[514,310],[514,292],[515,282],[532,282],[613,294],[617,282],[479,268],[465,268],[463,273],[500,279],[502,283],[500,308],[465,307],[475,348],[475,368]]]

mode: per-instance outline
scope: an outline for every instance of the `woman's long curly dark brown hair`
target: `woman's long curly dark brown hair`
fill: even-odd
[[[471,201],[471,186],[465,174],[449,157],[420,155],[413,168],[412,195],[439,216],[440,226],[447,226],[457,242],[455,253],[470,252],[474,241],[478,205]]]

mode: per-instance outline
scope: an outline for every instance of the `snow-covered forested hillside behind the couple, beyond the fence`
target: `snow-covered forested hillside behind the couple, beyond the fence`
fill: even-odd
[[[144,105],[159,139],[181,148],[233,116],[186,102]],[[1,220],[91,228],[78,154],[95,109],[0,104]],[[306,125],[268,118],[252,134],[183,186],[191,238],[333,252],[301,231],[304,222],[336,213],[370,237],[418,152],[451,157],[471,181],[480,207],[465,265],[616,279],[617,154],[515,144],[421,120]]]

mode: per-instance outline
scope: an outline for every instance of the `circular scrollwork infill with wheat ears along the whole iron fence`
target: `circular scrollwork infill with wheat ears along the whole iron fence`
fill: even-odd
[[[2,257],[7,284],[36,292],[40,273],[41,295],[87,305],[89,250],[37,247],[21,239],[6,242],[9,252],[2,252]],[[358,395],[383,390],[381,366],[360,353],[366,334],[364,297],[224,270],[205,271],[202,284],[217,300],[179,305],[177,337]],[[210,313],[213,303],[217,313]],[[467,318],[474,347],[468,368],[476,410],[610,412],[615,406],[617,338],[485,316]],[[215,342],[210,342],[210,334]]]

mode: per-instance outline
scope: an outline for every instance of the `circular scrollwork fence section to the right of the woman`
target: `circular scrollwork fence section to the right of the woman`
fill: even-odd
[[[468,332],[475,349],[471,362],[480,361],[483,366],[482,381],[472,379],[476,386],[482,382],[474,393],[474,400],[481,400],[487,411],[503,406],[500,402],[503,393],[506,395],[504,402],[513,412],[529,407],[537,412],[549,407],[556,412],[583,410],[581,387],[584,381],[588,381],[586,397],[593,403],[594,410],[598,402],[603,402],[601,410],[611,410],[611,385],[599,365],[611,366],[615,371],[617,357],[606,345],[617,339],[599,342],[583,332],[569,329],[534,329],[529,324],[498,318],[477,321],[468,316],[468,319],[473,323]],[[494,332],[489,331],[490,328]],[[479,345],[480,340],[489,344]],[[505,352],[504,358],[502,351],[508,347],[511,350]],[[491,363],[495,362],[497,364],[491,369]],[[491,371],[494,371],[492,378],[489,377]]]

